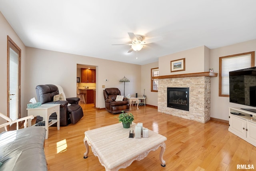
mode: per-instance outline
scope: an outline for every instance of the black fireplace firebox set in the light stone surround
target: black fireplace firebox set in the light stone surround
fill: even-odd
[[[189,111],[189,87],[167,87],[167,107]]]

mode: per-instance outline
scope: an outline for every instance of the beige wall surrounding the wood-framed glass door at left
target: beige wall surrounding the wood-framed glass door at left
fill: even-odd
[[[26,48],[17,34],[14,32],[10,24],[6,21],[0,12],[0,112],[7,115],[7,36],[19,46],[21,49],[21,115],[26,116],[26,102],[25,102],[25,89],[26,89]],[[4,121],[0,118],[0,123]]]

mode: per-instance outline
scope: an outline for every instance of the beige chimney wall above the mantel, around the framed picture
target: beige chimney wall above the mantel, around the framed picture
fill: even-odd
[[[185,58],[185,71],[171,72],[170,61],[182,58]],[[200,46],[175,54],[162,56],[159,58],[158,62],[160,76],[208,72],[210,66],[210,50],[205,46]]]

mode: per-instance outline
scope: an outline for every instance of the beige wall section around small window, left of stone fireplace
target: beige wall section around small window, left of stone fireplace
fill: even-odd
[[[158,93],[151,92],[151,68],[158,68],[158,62],[141,66],[141,94],[138,95],[143,95],[145,89],[146,104],[157,106]]]

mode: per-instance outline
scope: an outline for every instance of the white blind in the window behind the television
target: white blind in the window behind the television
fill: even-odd
[[[251,55],[222,58],[222,94],[229,95],[229,72],[251,67]]]

